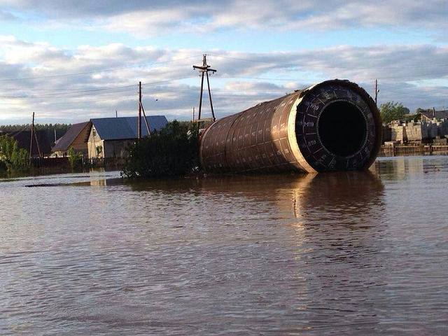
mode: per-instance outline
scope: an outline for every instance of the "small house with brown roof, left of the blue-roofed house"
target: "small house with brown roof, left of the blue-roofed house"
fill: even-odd
[[[55,156],[64,157],[67,155],[69,148],[73,147],[76,152],[83,153],[87,157],[87,140],[89,139],[91,128],[92,123],[90,121],[71,125],[69,130],[57,139],[52,152]]]

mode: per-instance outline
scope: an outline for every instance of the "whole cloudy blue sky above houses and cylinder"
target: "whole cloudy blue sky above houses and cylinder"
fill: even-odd
[[[204,54],[217,118],[332,78],[448,109],[447,31],[447,0],[0,0],[0,125],[135,116],[139,81],[189,120]]]

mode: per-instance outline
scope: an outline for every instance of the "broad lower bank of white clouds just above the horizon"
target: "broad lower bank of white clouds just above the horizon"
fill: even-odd
[[[26,121],[32,111],[59,122],[111,116],[115,110],[130,115],[137,109],[139,80],[146,83],[148,113],[189,118],[197,106],[199,78],[192,64],[200,63],[200,50],[117,43],[69,50],[13,36],[0,36],[0,43],[0,123]],[[214,50],[209,56],[218,69],[211,76],[218,116],[329,78],[348,78],[369,92],[378,78],[379,102],[401,101],[410,109],[447,106],[447,59],[448,47],[431,45],[264,53]],[[64,76],[68,73],[72,75]],[[190,80],[181,80],[185,77]],[[207,106],[205,94],[204,102]]]

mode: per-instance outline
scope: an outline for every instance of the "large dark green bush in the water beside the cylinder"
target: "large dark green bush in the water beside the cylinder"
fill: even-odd
[[[128,150],[130,158],[122,175],[129,179],[185,176],[199,166],[199,141],[193,123],[174,120]]]

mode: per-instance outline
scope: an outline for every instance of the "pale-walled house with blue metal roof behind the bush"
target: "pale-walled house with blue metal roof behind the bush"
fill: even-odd
[[[147,116],[152,131],[161,130],[168,123],[165,116]],[[125,158],[127,148],[137,139],[138,117],[90,119],[92,128],[87,141],[89,158]],[[148,135],[144,117],[141,117],[141,136]]]

